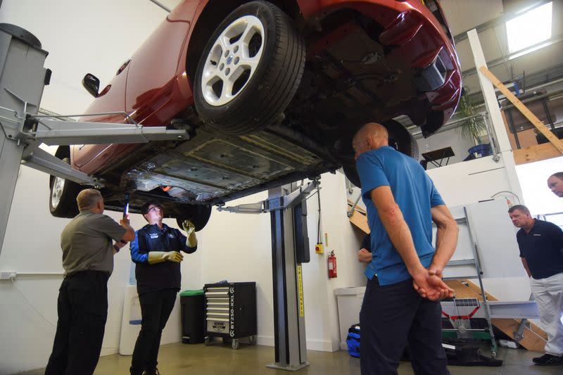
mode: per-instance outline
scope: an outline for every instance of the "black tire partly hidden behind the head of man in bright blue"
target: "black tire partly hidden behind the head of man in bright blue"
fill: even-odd
[[[384,125],[389,133],[389,146],[415,160],[419,160],[417,140],[407,129],[405,129],[405,127],[403,127],[403,125],[400,124],[400,122],[389,120],[381,125]],[[343,163],[342,169],[348,181],[359,188],[362,187],[355,163]]]

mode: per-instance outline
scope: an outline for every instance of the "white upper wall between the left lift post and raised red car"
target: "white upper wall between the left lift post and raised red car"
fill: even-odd
[[[180,0],[162,1],[170,7]],[[45,68],[53,71],[42,108],[79,114],[92,97],[82,87],[86,73],[101,87],[131,57],[167,13],[148,0],[4,0],[0,23],[31,32],[49,52]]]

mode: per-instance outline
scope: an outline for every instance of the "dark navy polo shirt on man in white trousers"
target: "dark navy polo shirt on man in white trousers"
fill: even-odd
[[[534,279],[563,272],[563,231],[557,225],[535,219],[530,232],[520,229],[516,239]]]

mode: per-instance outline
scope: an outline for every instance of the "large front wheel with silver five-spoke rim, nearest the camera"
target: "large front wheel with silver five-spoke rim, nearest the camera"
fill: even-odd
[[[293,98],[305,43],[281,9],[266,1],[236,8],[203,50],[194,82],[199,117],[226,134],[265,127]]]

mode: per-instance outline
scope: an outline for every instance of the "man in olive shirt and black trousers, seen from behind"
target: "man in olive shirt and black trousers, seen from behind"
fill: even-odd
[[[59,288],[57,331],[45,375],[94,373],[108,316],[113,254],[135,238],[128,217],[118,224],[102,215],[99,191],[80,191],[76,201],[80,213],[61,234],[65,279]]]

